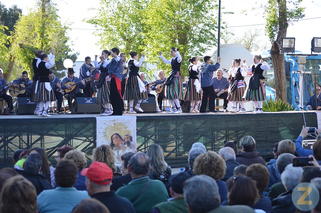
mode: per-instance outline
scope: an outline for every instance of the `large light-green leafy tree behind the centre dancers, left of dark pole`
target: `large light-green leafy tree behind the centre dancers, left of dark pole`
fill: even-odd
[[[182,75],[187,75],[187,59],[201,56],[217,43],[218,5],[210,0],[101,0],[100,5],[97,16],[87,20],[98,29],[98,45],[145,53],[146,61],[157,69],[169,72],[158,52],[169,58],[170,48],[177,46],[183,58]]]

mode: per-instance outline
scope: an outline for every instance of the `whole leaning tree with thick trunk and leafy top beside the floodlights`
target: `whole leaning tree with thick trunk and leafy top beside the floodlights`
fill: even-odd
[[[271,57],[275,77],[275,94],[277,99],[287,101],[284,53],[281,53],[281,40],[286,37],[289,24],[302,19],[304,7],[302,0],[268,0],[265,7],[265,31],[272,43]],[[291,6],[290,6],[291,5]],[[275,39],[276,36],[276,39]]]

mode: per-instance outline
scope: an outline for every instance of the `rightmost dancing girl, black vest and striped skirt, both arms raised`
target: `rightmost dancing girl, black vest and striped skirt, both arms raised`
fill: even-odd
[[[270,66],[262,60],[261,55],[255,55],[253,57],[253,63],[250,67],[247,67],[246,61],[243,60],[244,70],[252,71],[252,77],[248,83],[245,99],[247,101],[253,101],[256,108],[252,113],[263,113],[262,106],[263,101],[266,100],[265,95],[265,81],[263,76],[264,70],[270,70]]]

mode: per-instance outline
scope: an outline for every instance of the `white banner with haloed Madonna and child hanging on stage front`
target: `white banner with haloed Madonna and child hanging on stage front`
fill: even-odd
[[[115,165],[121,165],[121,156],[136,152],[136,116],[96,117],[97,147],[109,145],[115,153]]]

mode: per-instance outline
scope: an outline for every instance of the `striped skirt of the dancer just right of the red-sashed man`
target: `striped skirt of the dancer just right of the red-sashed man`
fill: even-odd
[[[147,92],[140,92],[137,76],[128,76],[124,101],[147,99]]]

